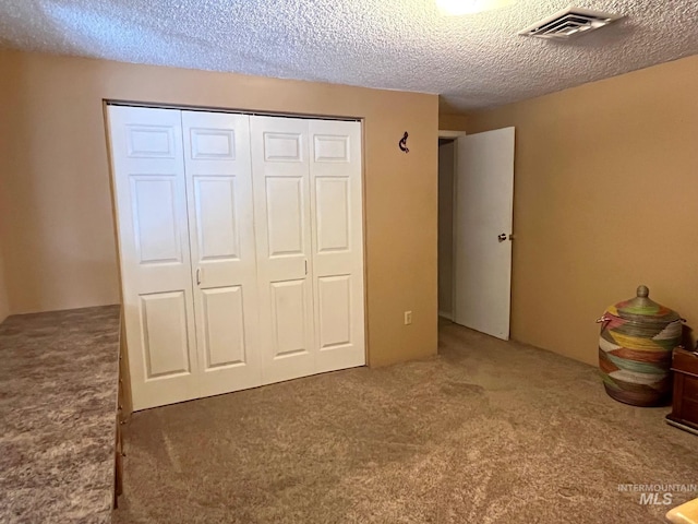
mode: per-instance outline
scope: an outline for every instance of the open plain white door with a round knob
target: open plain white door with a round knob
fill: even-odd
[[[454,321],[509,338],[514,128],[456,140]]]

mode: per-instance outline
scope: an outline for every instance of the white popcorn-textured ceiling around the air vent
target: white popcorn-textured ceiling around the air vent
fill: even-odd
[[[0,47],[437,93],[445,112],[698,53],[696,0],[579,0],[627,17],[570,41],[517,36],[568,5],[449,17],[434,0],[0,0]]]

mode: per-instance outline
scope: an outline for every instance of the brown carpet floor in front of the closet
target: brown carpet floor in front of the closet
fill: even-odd
[[[591,366],[448,323],[431,359],[134,414],[113,517],[660,523],[698,497],[698,437],[669,410],[613,401]],[[671,503],[619,485],[661,485]]]

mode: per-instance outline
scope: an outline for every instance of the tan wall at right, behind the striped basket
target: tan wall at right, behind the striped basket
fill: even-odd
[[[698,327],[698,56],[469,116],[516,127],[512,336],[597,361],[647,284]]]

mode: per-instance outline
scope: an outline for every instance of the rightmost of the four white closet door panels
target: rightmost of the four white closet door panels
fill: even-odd
[[[365,364],[361,123],[311,120],[317,371]]]

